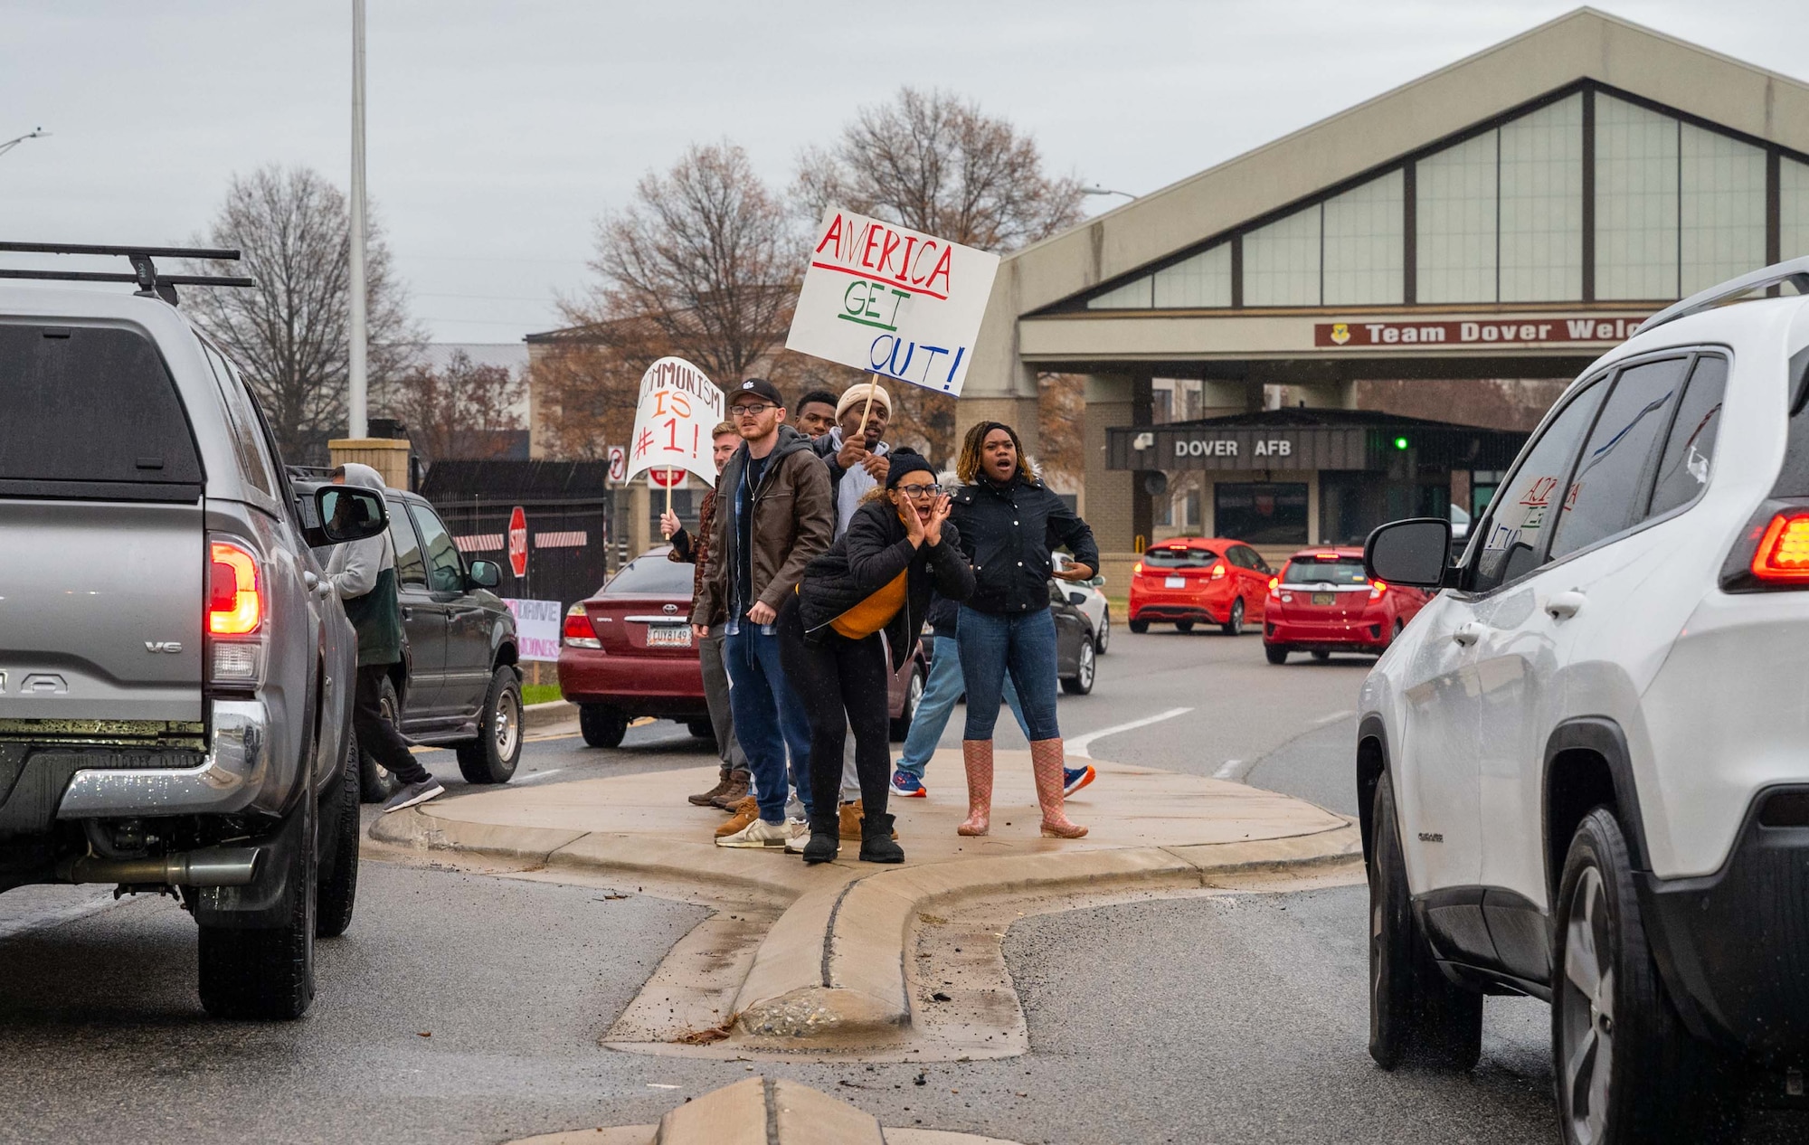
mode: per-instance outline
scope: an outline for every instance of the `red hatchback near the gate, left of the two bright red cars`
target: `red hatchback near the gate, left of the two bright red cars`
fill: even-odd
[[[1151,544],[1131,566],[1131,631],[1151,624],[1192,631],[1203,620],[1236,637],[1246,620],[1263,619],[1274,573],[1243,541],[1174,537]]]

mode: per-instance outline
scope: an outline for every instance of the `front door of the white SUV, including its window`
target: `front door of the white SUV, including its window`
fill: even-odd
[[[1483,798],[1480,724],[1491,705],[1518,705],[1518,678],[1483,678],[1478,644],[1489,628],[1514,628],[1532,610],[1521,579],[1538,563],[1554,494],[1596,421],[1605,385],[1576,393],[1532,440],[1496,492],[1463,572],[1467,591],[1442,593],[1420,613],[1420,640],[1404,669],[1406,727],[1400,832],[1415,894],[1431,892],[1425,923],[1442,950],[1492,960],[1482,917]],[[1491,807],[1491,818],[1496,816]],[[1538,819],[1534,819],[1538,821]]]

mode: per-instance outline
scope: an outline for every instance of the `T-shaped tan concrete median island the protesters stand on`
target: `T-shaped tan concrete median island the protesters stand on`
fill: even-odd
[[[1009,1031],[1020,1029],[1009,979],[997,980],[1002,930],[1024,913],[1006,910],[1015,901],[1189,894],[1255,872],[1350,865],[1360,852],[1353,823],[1292,796],[1094,765],[1098,780],[1069,800],[1069,816],[1091,827],[1085,839],[1040,837],[1020,751],[999,752],[991,834],[966,839],[955,834],[966,814],[961,754],[939,751],[930,796],[890,807],[901,866],[856,861],[854,841],[821,866],[715,847],[722,814],[684,800],[713,781],[713,767],[440,800],[378,818],[371,839],[711,904],[715,915],[673,946],[604,1038],[619,1049],[1006,1056],[1024,1049]],[[968,944],[955,944],[962,933]],[[953,982],[975,975],[977,1009],[946,1017],[961,1009],[944,1006],[961,1000]]]

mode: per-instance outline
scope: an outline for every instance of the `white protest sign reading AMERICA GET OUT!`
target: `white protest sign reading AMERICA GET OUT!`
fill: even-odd
[[[785,349],[961,394],[999,255],[830,206]]]

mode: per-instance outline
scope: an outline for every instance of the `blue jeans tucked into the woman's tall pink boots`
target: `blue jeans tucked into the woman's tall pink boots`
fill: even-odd
[[[1047,608],[1017,617],[995,617],[961,606],[955,624],[961,675],[968,682],[968,727],[962,740],[991,740],[1006,675],[1024,705],[1024,736],[1060,740],[1055,724],[1055,615]]]

